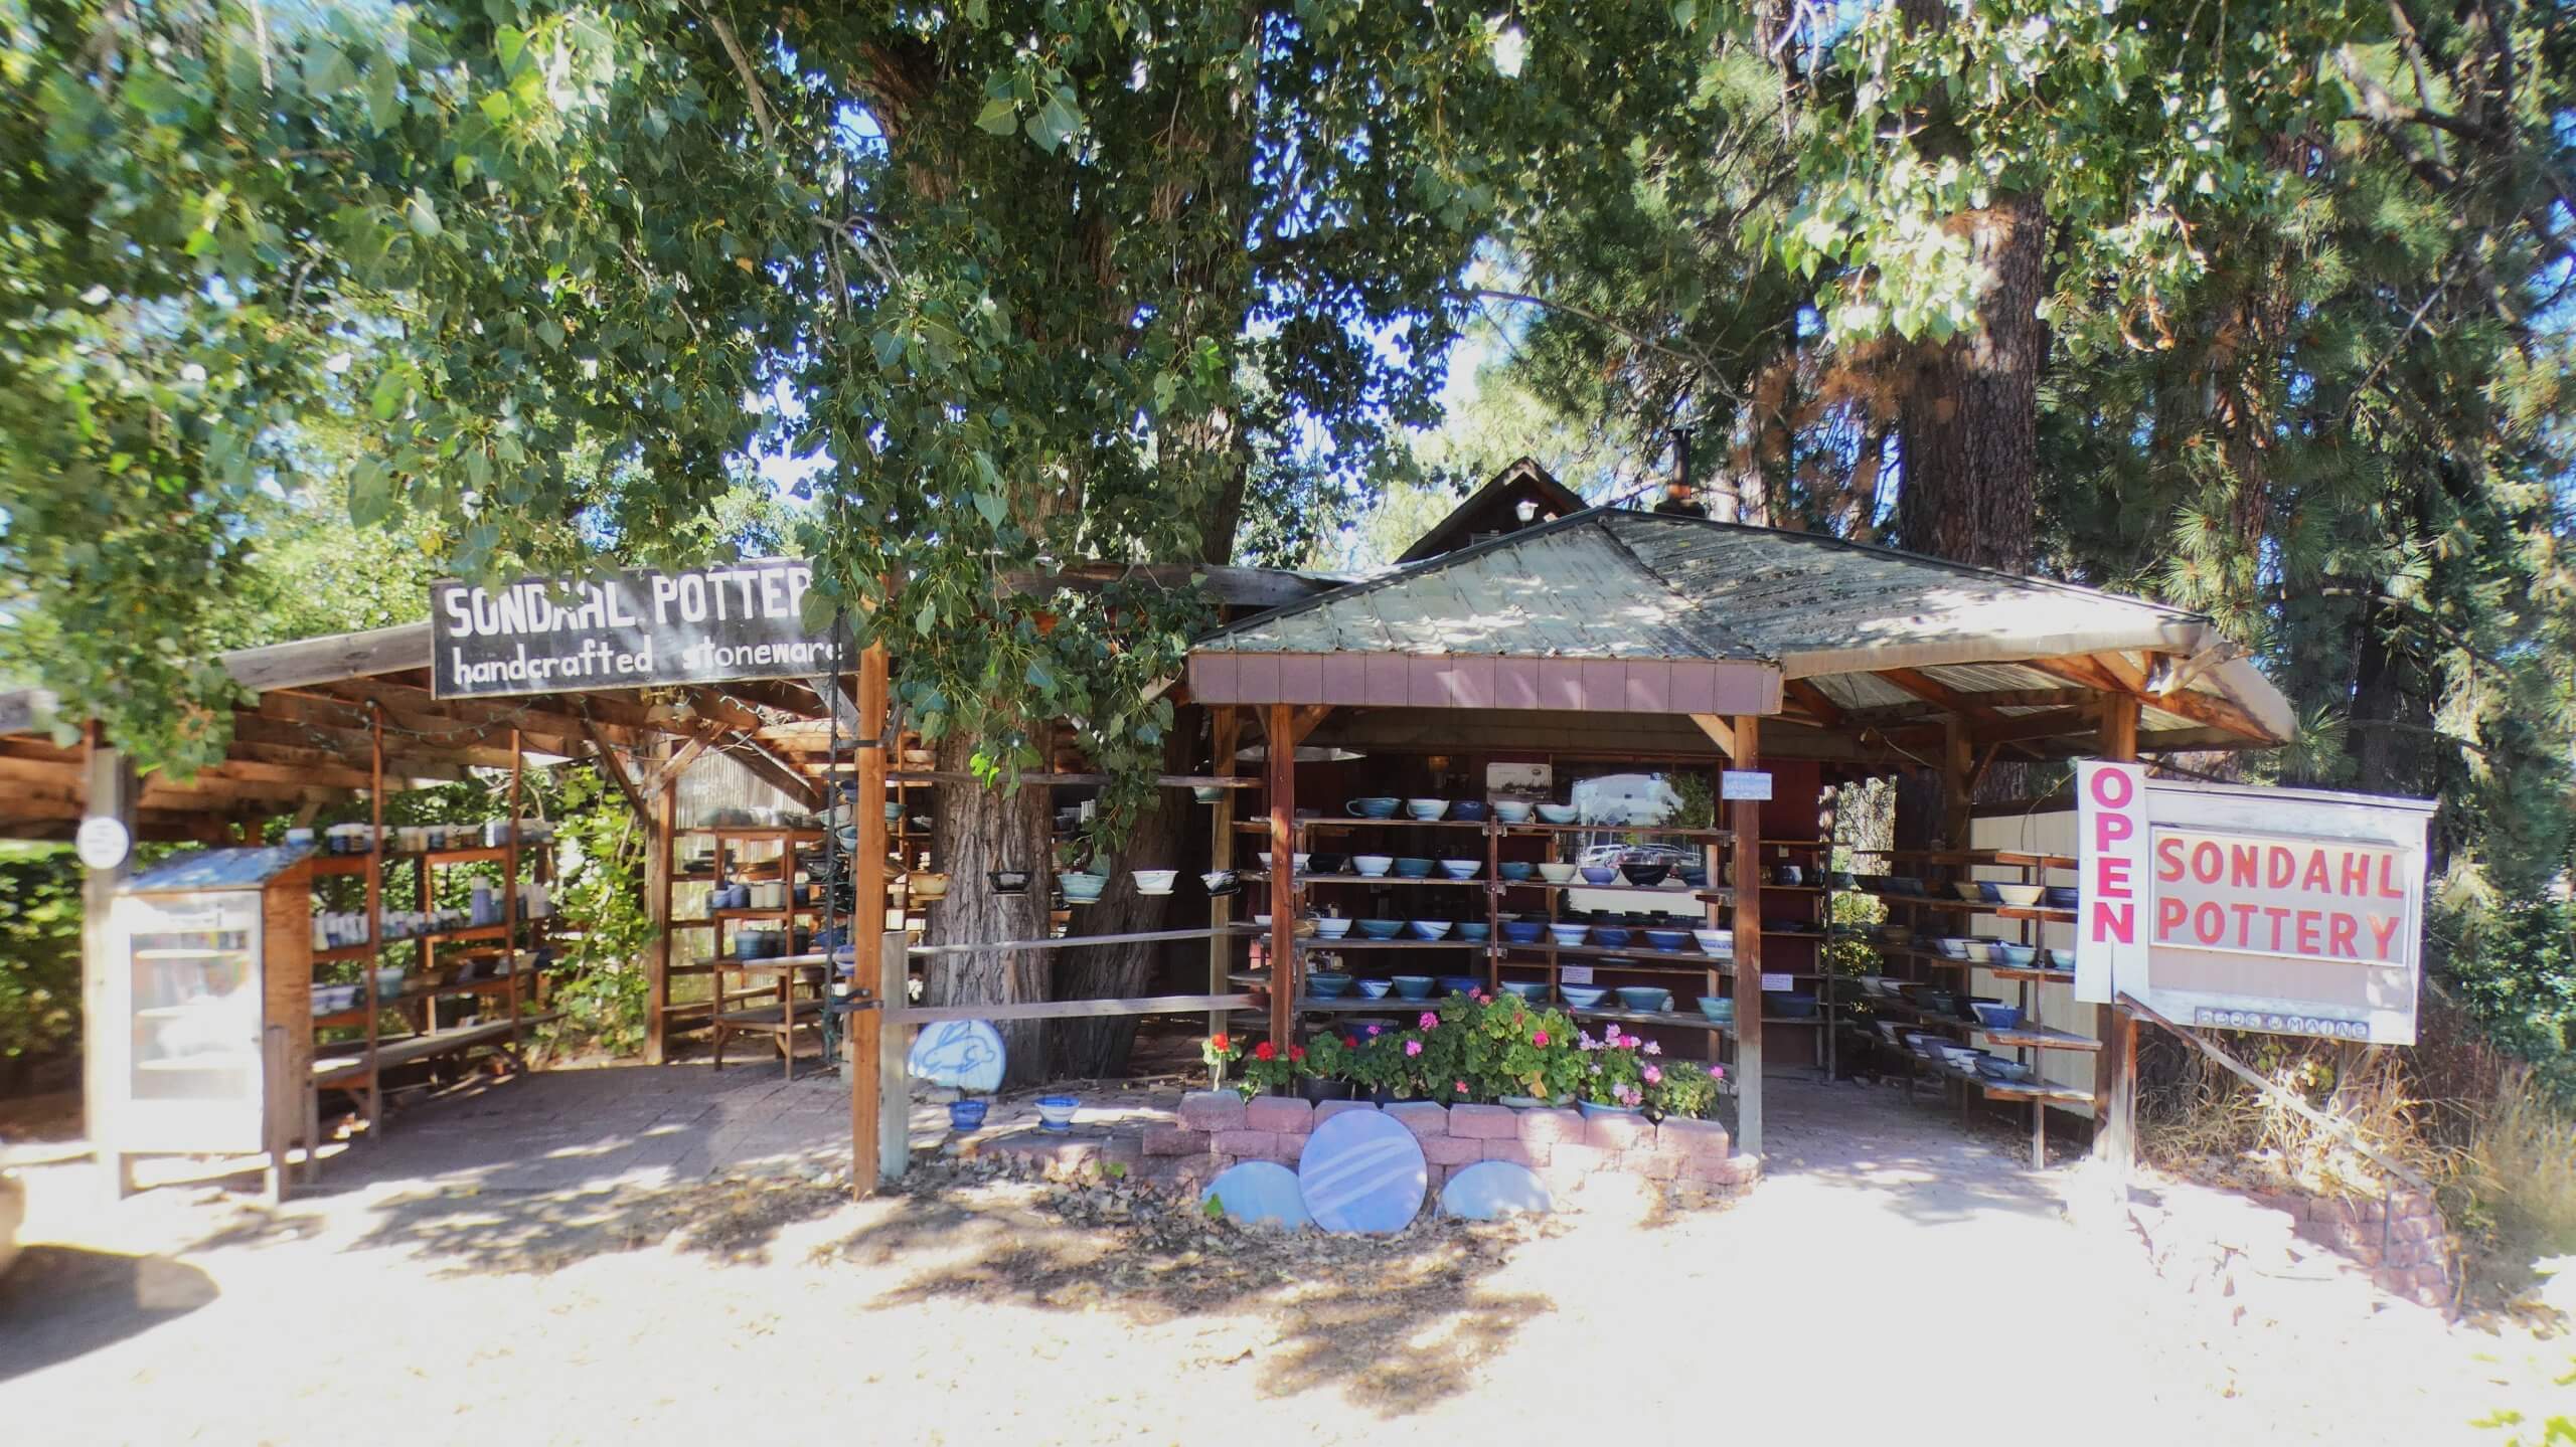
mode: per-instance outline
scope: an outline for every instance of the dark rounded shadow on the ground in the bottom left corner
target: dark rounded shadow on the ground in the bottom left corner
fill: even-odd
[[[216,1295],[206,1272],[167,1256],[28,1246],[0,1277],[0,1383],[113,1347]]]

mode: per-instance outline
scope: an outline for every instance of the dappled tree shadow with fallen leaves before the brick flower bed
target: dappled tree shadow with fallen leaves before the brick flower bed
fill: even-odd
[[[1546,1298],[1484,1280],[1535,1223],[1422,1218],[1396,1236],[1244,1228],[1146,1192],[981,1184],[914,1172],[899,1208],[817,1256],[917,1264],[878,1300],[971,1300],[1041,1311],[1105,1311],[1139,1326],[1236,1318],[1239,1354],[1267,1396],[1340,1390],[1396,1419],[1473,1390],[1476,1365],[1543,1311]],[[1082,1210],[1108,1197],[1113,1218]],[[1231,1357],[1226,1357],[1231,1359]]]

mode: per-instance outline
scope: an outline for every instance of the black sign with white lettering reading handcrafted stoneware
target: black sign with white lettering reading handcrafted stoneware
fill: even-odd
[[[435,698],[814,677],[832,631],[804,626],[814,566],[757,559],[595,582],[430,584]]]

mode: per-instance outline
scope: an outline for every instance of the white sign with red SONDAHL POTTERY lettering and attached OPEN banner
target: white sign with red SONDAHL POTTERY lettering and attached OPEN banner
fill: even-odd
[[[2432,803],[2076,765],[2076,999],[2411,1045]]]

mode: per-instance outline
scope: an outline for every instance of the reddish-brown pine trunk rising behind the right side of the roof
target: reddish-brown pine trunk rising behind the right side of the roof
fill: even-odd
[[[1950,224],[1976,257],[1978,327],[1917,345],[1896,415],[1904,438],[1896,536],[1917,554],[2027,572],[2040,502],[2048,327],[2038,304],[2048,211],[2038,196],[2004,196]]]

